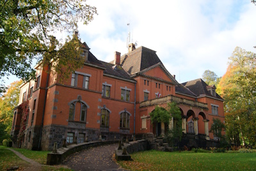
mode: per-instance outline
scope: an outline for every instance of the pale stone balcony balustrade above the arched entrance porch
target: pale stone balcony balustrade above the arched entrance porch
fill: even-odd
[[[161,103],[170,103],[175,101],[177,104],[189,105],[191,107],[198,107],[208,110],[207,103],[201,103],[198,101],[188,100],[185,98],[179,98],[177,96],[168,95],[162,98],[155,98],[152,100],[142,101],[140,107],[148,107],[151,105],[159,105]]]

